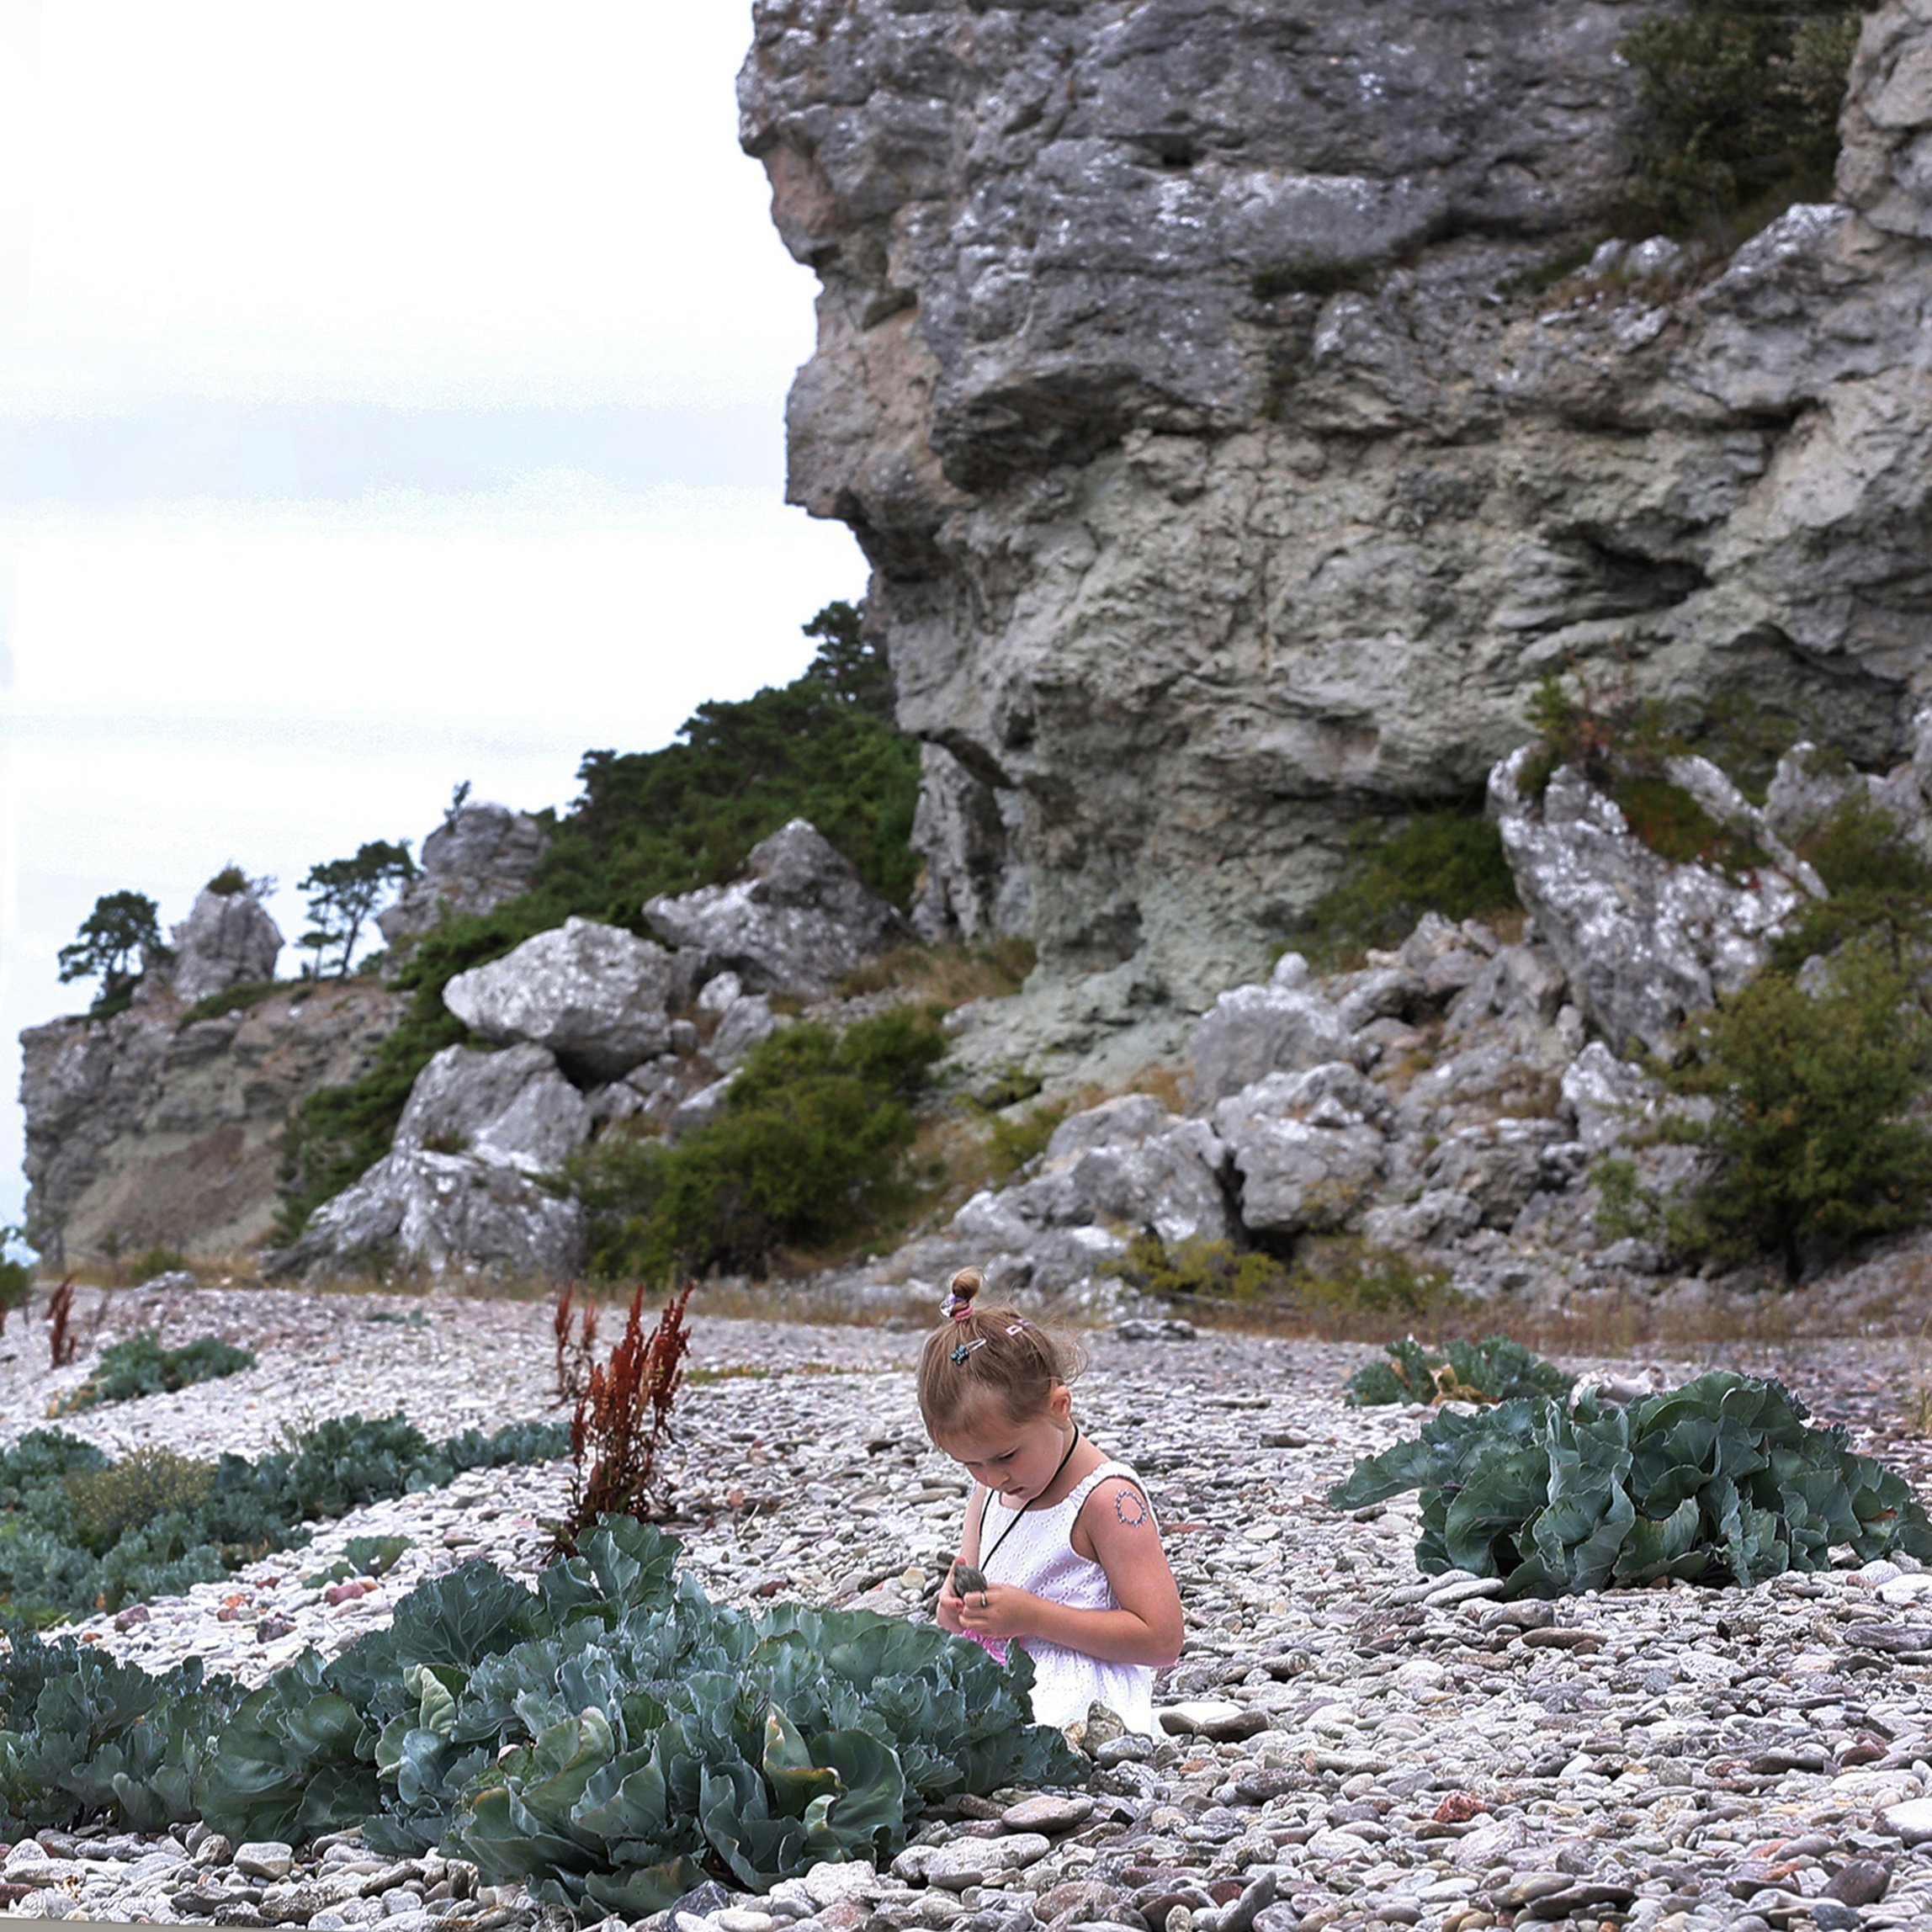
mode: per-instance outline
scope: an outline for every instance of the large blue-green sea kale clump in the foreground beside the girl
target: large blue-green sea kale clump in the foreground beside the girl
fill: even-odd
[[[21,1644],[0,1658],[0,1797],[21,1828],[361,1826],[384,1855],[440,1845],[489,1884],[639,1918],[707,1874],[767,1889],[883,1862],[935,1799],[1084,1777],[1030,1721],[1024,1654],[869,1611],[750,1617],[676,1578],[676,1551],[616,1517],[535,1592],[466,1563],[245,1696]]]

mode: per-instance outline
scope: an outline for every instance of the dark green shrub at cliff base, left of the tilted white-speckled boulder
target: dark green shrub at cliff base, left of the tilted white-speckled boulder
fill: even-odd
[[[1517,883],[1497,829],[1472,811],[1418,811],[1391,829],[1349,829],[1341,885],[1308,914],[1302,949],[1329,962],[1393,947],[1424,912],[1449,920],[1519,912]]]

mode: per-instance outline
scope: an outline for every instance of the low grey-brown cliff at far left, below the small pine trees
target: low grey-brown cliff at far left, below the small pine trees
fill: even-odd
[[[182,1001],[156,989],[110,1020],[27,1028],[29,1238],[50,1265],[155,1242],[259,1246],[290,1113],[363,1074],[402,1007],[367,980],[305,981],[184,1026]]]

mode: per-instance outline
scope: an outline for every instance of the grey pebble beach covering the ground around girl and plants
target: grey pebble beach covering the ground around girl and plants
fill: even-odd
[[[547,1306],[201,1291],[162,1308],[122,1294],[99,1333],[156,1318],[170,1343],[220,1333],[255,1347],[261,1366],[87,1412],[68,1424],[77,1434],[259,1453],[346,1408],[404,1408],[431,1435],[554,1414]],[[85,1335],[85,1306],[81,1320]],[[896,1613],[929,1602],[966,1486],[920,1430],[918,1343],[918,1331],[697,1323],[694,1362],[724,1374],[678,1403],[674,1530],[715,1598]],[[1874,1565],[1752,1592],[1553,1605],[1420,1578],[1412,1499],[1354,1517],[1321,1501],[1356,1455],[1422,1416],[1341,1405],[1366,1354],[1095,1335],[1080,1416],[1146,1474],[1188,1615],[1186,1652],[1155,1698],[1177,1735],[1101,1747],[1088,1791],[935,1816],[889,1872],[819,1868],[769,1899],[713,1889],[661,1932],[1932,1924],[1932,1816],[1899,1810],[1932,1795],[1932,1575]],[[87,1362],[83,1350],[50,1374],[44,1333],[19,1325],[0,1356],[6,1437],[37,1426]],[[1660,1366],[1669,1379],[1708,1366],[1779,1374],[1926,1490],[1932,1443],[1903,1420],[1911,1343],[1710,1347]],[[303,1644],[340,1650],[466,1557],[529,1575],[566,1474],[473,1472],[375,1505],[299,1553],[145,1617],[95,1619],[83,1636],[151,1667],[199,1654],[259,1679]],[[392,1532],[412,1548],[361,1598],[330,1605],[303,1586],[348,1538]],[[197,1830],[41,1833],[8,1851],[0,1886],[14,1917],[317,1932],[373,1920],[495,1932],[541,1917],[460,1861],[390,1864],[354,1837],[292,1853]]]

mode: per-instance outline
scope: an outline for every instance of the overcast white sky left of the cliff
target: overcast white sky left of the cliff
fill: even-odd
[[[744,0],[0,0],[12,1068],[100,893],[172,922],[236,860],[294,937],[317,860],[464,779],[560,806],[860,595],[782,506],[813,282],[748,43]]]

